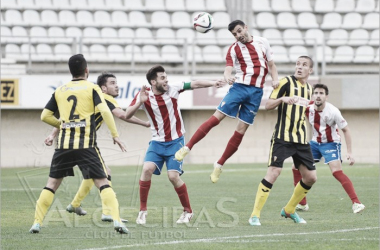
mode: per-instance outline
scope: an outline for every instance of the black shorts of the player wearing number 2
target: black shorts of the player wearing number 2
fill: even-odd
[[[56,149],[49,176],[55,179],[74,176],[73,167],[76,165],[84,179],[107,178],[106,165],[98,148]]]

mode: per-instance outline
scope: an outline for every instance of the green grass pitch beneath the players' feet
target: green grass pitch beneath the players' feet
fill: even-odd
[[[141,166],[111,169],[129,235],[116,234],[111,223],[100,221],[95,188],[82,203],[86,216],[65,211],[81,181],[77,168],[76,176],[66,178],[56,192],[41,232],[30,234],[35,202],[49,169],[1,169],[1,249],[379,249],[378,165],[344,166],[366,205],[363,213],[353,214],[340,183],[327,166],[318,164],[318,181],[308,194],[310,210],[300,212],[307,224],[298,225],[280,216],[293,192],[290,164],[285,164],[261,213],[260,227],[250,226],[248,218],[265,164],[226,164],[216,184],[209,180],[212,165],[185,165],[183,180],[195,213],[189,225],[175,223],[181,206],[166,171],[152,179],[147,224],[136,225]]]

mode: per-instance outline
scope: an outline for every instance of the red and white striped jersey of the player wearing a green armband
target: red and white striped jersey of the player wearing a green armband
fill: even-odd
[[[184,91],[183,86],[183,82],[169,85],[169,90],[162,95],[155,95],[151,88],[147,89],[149,99],[140,109],[143,109],[149,118],[153,141],[172,141],[185,134],[181,110],[178,107],[178,97]],[[129,106],[133,106],[137,98],[140,98],[140,92]]]

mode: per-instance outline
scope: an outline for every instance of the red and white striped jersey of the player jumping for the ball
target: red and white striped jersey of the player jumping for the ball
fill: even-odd
[[[268,74],[267,62],[273,60],[273,51],[264,37],[254,36],[249,43],[236,41],[228,49],[226,66],[235,67],[236,82],[263,88]]]

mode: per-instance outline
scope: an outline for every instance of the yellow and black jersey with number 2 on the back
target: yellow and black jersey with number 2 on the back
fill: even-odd
[[[117,137],[115,121],[98,85],[87,80],[73,80],[56,89],[41,118],[56,126],[52,116],[59,111],[61,121],[57,149],[96,146],[95,107],[106,121],[112,136]]]

